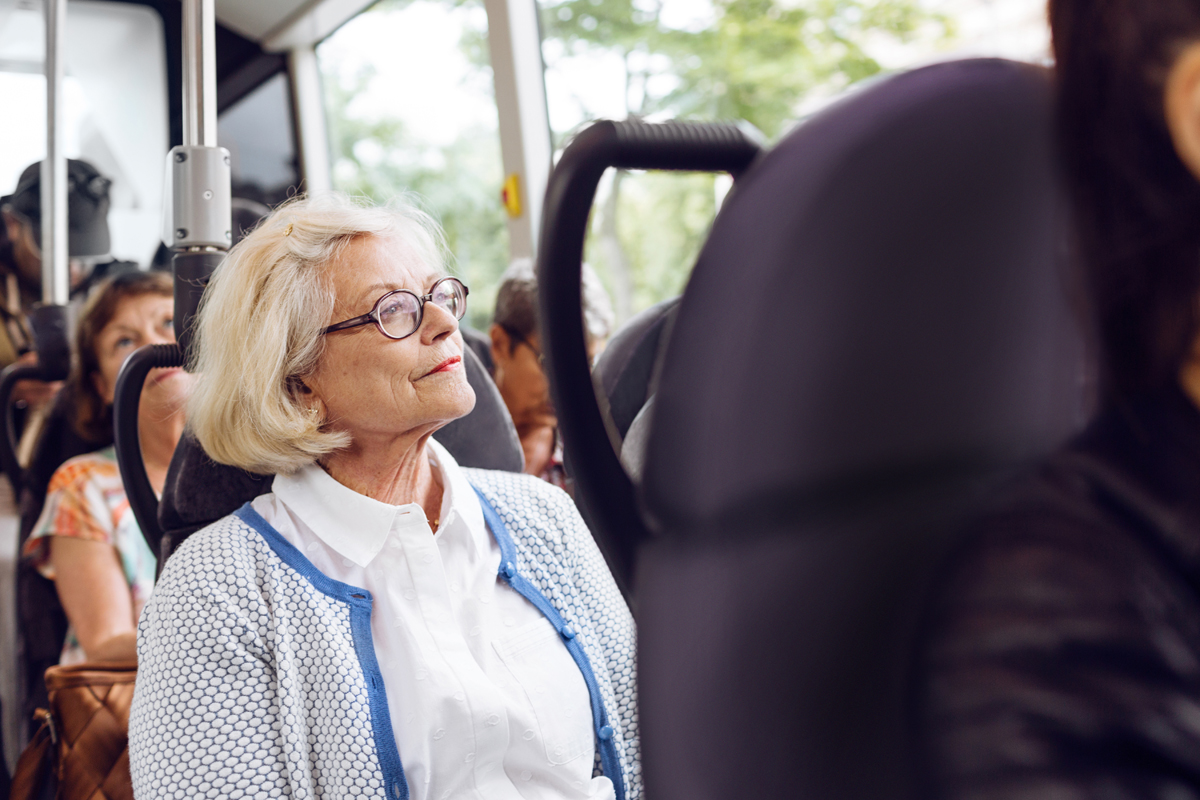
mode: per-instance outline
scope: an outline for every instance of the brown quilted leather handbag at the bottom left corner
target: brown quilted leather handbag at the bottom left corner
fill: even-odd
[[[130,705],[136,662],[50,667],[50,709],[17,762],[11,800],[133,800]]]

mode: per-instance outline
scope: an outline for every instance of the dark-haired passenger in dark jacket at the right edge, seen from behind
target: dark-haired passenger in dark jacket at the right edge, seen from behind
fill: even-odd
[[[1200,2],[1050,20],[1098,414],[952,560],[928,763],[949,798],[1198,798]]]

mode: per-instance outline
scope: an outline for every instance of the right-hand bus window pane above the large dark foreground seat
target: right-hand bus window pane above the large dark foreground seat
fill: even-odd
[[[595,119],[746,120],[778,140],[852,84],[968,55],[1043,61],[1045,0],[540,0],[557,146]],[[610,172],[586,258],[618,323],[683,290],[725,176]]]

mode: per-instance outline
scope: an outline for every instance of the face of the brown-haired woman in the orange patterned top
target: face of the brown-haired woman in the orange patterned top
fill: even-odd
[[[92,373],[92,381],[106,403],[113,402],[116,375],[131,353],[144,344],[175,342],[174,318],[175,301],[172,297],[143,294],[121,300],[113,319],[96,336],[100,372]],[[191,379],[179,367],[151,369],[142,390],[143,408],[146,404],[166,410],[181,407]]]

